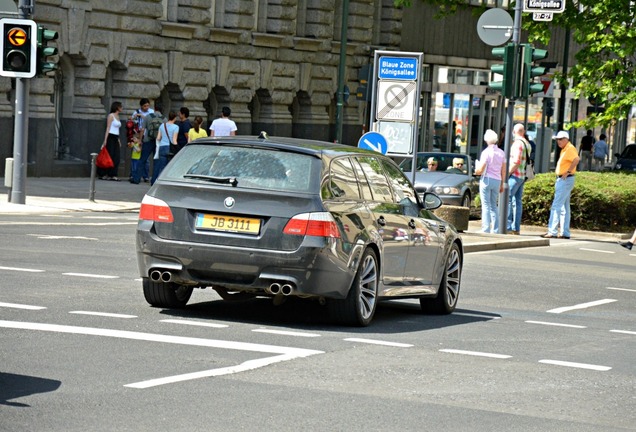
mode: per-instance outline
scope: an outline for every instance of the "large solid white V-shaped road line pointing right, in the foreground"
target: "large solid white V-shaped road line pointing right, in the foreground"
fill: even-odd
[[[37,330],[48,331],[56,333],[72,333],[89,336],[104,336],[114,337],[129,340],[140,340],[147,342],[161,342],[169,344],[180,344],[189,346],[202,346],[209,348],[231,349],[239,351],[252,351],[259,353],[277,354],[273,357],[267,357],[264,359],[256,359],[246,361],[237,366],[230,366],[219,369],[212,369],[208,371],[195,372],[191,374],[176,375],[172,377],[158,378],[155,380],[141,381],[137,383],[127,384],[125,387],[133,388],[148,388],[162,384],[168,384],[171,382],[185,381],[189,379],[203,378],[209,376],[227,375],[231,373],[243,372],[246,370],[252,370],[259,367],[267,366],[273,363],[281,361],[293,360],[296,358],[309,357],[315,354],[324,354],[324,351],[309,350],[303,348],[292,348],[274,345],[254,344],[247,342],[234,342],[223,341],[215,339],[203,339],[183,336],[169,336],[154,333],[141,333],[125,330],[111,330],[101,329],[94,327],[76,327],[65,326],[58,324],[42,324],[42,323],[30,323],[30,322],[17,322],[17,321],[4,321],[0,320],[0,327],[22,329],[22,330]]]

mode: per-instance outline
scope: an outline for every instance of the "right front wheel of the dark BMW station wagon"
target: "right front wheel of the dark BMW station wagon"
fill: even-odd
[[[459,299],[459,288],[461,285],[462,259],[459,253],[459,246],[453,244],[446,258],[444,276],[435,298],[421,298],[420,306],[422,311],[438,315],[452,313],[457,307]]]

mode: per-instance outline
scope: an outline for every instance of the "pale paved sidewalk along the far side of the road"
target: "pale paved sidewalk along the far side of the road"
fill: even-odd
[[[138,185],[128,181],[95,180],[94,201],[90,201],[89,178],[27,178],[26,203],[9,203],[9,188],[0,178],[0,214],[63,213],[63,212],[118,212],[137,213],[139,204],[150,189],[148,183]],[[550,239],[541,238],[545,227],[522,226],[521,235],[482,234],[480,221],[470,221],[468,230],[462,233],[464,250],[481,252],[549,246]],[[572,230],[575,240],[615,242],[624,238],[621,234]],[[555,240],[567,242],[568,240]]]

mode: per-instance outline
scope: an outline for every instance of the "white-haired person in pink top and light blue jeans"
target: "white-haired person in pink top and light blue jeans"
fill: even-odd
[[[497,132],[488,129],[484,141],[488,147],[481,152],[475,174],[480,175],[479,196],[481,198],[481,231],[496,233],[499,230],[497,198],[503,191],[502,179],[506,179],[506,154],[497,147]],[[504,221],[505,223],[505,221]]]

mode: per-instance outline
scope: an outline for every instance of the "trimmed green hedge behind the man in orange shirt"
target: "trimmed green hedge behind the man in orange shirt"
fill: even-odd
[[[523,223],[547,225],[554,197],[554,173],[538,174],[523,188]],[[633,232],[636,227],[636,175],[577,172],[570,199],[571,228]]]

